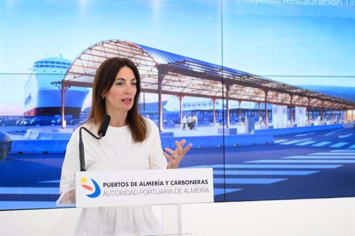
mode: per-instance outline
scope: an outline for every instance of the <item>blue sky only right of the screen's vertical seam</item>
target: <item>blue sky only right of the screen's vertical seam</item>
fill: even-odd
[[[260,3],[239,10],[239,2],[256,1],[235,0],[235,8],[223,7],[225,66],[293,85],[355,87],[355,7],[352,14],[349,8],[331,6],[281,8],[274,4],[256,10]],[[267,2],[271,1],[278,0]],[[342,12],[352,17],[339,17]],[[288,75],[298,77],[272,77]]]

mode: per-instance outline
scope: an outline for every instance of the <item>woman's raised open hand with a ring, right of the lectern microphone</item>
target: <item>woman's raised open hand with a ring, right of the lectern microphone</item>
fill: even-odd
[[[187,153],[191,146],[192,143],[189,143],[188,146],[183,148],[186,140],[183,139],[180,142],[175,141],[176,149],[172,150],[170,148],[165,148],[165,152],[163,152],[163,155],[169,160],[167,169],[177,169],[179,167],[180,161],[184,158],[185,153]],[[170,155],[168,153],[170,153]]]

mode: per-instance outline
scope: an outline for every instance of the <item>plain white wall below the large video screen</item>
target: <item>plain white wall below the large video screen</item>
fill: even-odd
[[[154,206],[154,210],[158,210]],[[80,209],[0,212],[0,235],[71,235]],[[355,197],[182,206],[192,235],[355,235]]]

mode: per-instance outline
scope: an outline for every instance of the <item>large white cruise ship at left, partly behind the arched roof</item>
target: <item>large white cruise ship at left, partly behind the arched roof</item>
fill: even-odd
[[[51,82],[62,81],[71,61],[50,57],[34,62],[25,85],[24,116],[56,116],[62,114],[61,91]],[[89,89],[70,87],[65,92],[65,115],[79,118]]]

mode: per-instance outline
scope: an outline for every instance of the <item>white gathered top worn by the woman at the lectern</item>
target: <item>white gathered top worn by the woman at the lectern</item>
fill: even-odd
[[[149,119],[148,137],[133,142],[128,126],[109,126],[97,140],[82,131],[86,171],[165,169],[167,160],[157,126]],[[84,124],[94,134],[98,128]],[[80,127],[79,127],[80,128]],[[60,192],[68,191],[75,172],[80,171],[79,128],[70,138],[62,167]],[[78,235],[154,235],[161,233],[150,206],[84,208],[76,227]]]

